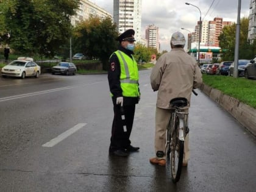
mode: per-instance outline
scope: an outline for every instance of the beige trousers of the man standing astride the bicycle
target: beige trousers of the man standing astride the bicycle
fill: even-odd
[[[186,110],[185,112],[188,112]],[[157,151],[165,152],[166,129],[171,118],[171,110],[165,108],[156,108],[155,110],[155,153]],[[165,155],[164,157],[165,158]],[[187,163],[190,158],[189,134],[184,142],[183,163]]]

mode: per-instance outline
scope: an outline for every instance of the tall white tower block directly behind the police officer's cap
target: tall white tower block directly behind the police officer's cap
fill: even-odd
[[[141,1],[113,0],[113,20],[119,34],[127,29],[135,30],[135,39],[141,39]]]

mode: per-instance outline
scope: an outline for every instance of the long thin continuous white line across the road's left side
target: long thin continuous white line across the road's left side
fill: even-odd
[[[35,96],[35,95],[38,95],[38,94],[51,93],[51,92],[54,92],[54,91],[62,91],[62,90],[67,90],[69,88],[75,88],[75,87],[80,87],[80,86],[84,86],[84,85],[92,85],[92,84],[98,84],[98,83],[99,82],[80,84],[80,85],[71,85],[71,86],[67,86],[67,87],[54,88],[52,90],[38,91],[38,92],[26,93],[26,94],[18,94],[18,95],[6,97],[6,98],[0,98],[0,102],[10,101],[10,100],[13,100],[13,99],[26,98],[26,97]]]

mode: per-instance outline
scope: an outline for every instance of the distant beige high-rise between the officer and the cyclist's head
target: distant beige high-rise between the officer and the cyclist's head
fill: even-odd
[[[146,40],[148,40],[148,47],[157,49],[159,52],[159,34],[158,27],[154,26],[154,24],[150,24],[146,29],[145,34]]]

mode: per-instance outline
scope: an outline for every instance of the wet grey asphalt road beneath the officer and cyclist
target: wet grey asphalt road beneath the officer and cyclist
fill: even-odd
[[[0,191],[255,191],[255,138],[199,90],[190,108],[191,158],[180,182],[171,182],[168,166],[149,163],[157,97],[150,73],[140,71],[130,137],[141,149],[127,158],[108,155],[107,74],[0,77]]]

